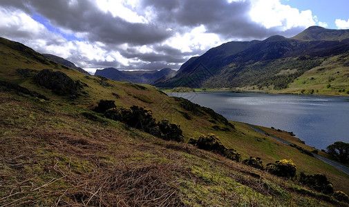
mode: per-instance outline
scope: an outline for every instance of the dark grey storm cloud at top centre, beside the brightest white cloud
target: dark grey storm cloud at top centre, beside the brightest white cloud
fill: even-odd
[[[251,1],[226,0],[144,0],[144,7],[153,8],[157,21],[167,23],[177,30],[203,25],[207,32],[223,39],[264,39],[280,34],[281,28],[265,28],[251,20]],[[293,35],[304,28],[292,28],[283,34]]]

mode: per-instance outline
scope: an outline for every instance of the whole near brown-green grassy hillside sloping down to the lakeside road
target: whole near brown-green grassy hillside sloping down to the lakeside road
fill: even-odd
[[[209,108],[153,86],[85,75],[7,39],[0,60],[0,206],[348,206],[218,148],[188,144],[214,133],[225,153],[260,157],[264,166],[292,159],[296,175],[321,172],[349,193],[349,175]],[[180,126],[185,141],[107,119],[93,111],[101,99],[145,107],[148,118]]]

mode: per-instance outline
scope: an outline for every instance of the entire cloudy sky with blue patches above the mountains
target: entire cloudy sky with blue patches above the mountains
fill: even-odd
[[[0,36],[94,73],[173,69],[227,41],[349,28],[348,0],[0,0]]]

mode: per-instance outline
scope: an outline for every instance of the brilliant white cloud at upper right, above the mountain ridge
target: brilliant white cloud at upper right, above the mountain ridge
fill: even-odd
[[[311,10],[299,12],[296,8],[281,4],[279,0],[252,0],[249,15],[253,21],[261,23],[265,28],[279,27],[283,31],[298,26],[307,28],[315,24]]]

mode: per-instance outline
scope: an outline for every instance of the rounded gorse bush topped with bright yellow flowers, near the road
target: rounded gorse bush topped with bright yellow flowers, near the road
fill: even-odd
[[[276,176],[287,178],[296,176],[297,170],[296,165],[293,163],[291,159],[281,159],[275,161],[275,164],[268,163],[266,169],[268,172]]]

